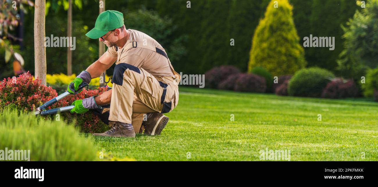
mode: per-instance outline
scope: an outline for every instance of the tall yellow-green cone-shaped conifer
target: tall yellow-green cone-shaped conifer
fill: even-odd
[[[276,3],[278,2],[278,3]],[[248,71],[262,66],[273,76],[294,74],[305,67],[304,50],[288,0],[272,0],[253,36]]]

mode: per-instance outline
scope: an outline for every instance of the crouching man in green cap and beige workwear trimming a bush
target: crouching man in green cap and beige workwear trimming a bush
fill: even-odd
[[[108,114],[112,129],[94,136],[135,137],[143,128],[144,134],[159,135],[168,123],[163,113],[177,106],[181,79],[164,48],[147,34],[126,29],[123,14],[118,11],[102,12],[95,28],[85,35],[104,42],[108,50],[68,85],[68,92],[73,93],[83,81],[89,83],[116,63],[113,88],[99,96],[74,101],[70,111],[95,109],[101,115]],[[143,121],[145,116],[147,121]]]

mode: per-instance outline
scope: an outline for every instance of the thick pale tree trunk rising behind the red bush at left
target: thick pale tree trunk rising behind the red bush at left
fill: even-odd
[[[35,1],[34,77],[46,85],[45,0]]]

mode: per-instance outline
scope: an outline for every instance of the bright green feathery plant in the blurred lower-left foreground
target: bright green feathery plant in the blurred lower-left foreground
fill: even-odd
[[[45,121],[32,113],[11,109],[0,113],[0,149],[30,150],[31,161],[94,161],[91,137],[64,121]]]

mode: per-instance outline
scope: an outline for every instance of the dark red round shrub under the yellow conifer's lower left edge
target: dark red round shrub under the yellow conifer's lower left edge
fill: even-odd
[[[234,90],[238,92],[263,93],[266,90],[265,78],[254,74],[239,74]]]

